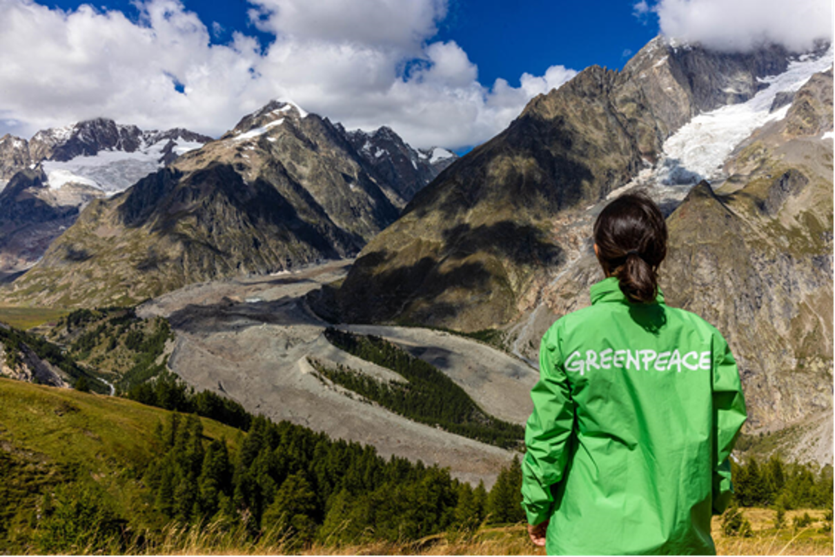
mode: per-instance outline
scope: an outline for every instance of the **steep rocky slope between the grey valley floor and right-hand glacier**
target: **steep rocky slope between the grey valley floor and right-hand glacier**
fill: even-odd
[[[344,319],[468,330],[518,319],[566,260],[560,214],[628,183],[694,115],[751,98],[788,62],[778,48],[727,55],[659,38],[621,73],[588,68],[534,98],[363,250],[338,296]]]

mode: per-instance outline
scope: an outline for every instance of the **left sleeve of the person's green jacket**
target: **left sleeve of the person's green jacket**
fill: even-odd
[[[574,401],[556,339],[549,331],[539,348],[539,383],[531,391],[534,412],[525,429],[522,507],[529,524],[550,518],[551,486],[562,479],[574,427]]]

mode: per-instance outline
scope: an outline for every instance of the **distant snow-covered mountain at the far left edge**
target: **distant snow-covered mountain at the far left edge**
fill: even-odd
[[[31,141],[0,139],[0,278],[43,257],[94,198],[123,191],[209,141],[185,129],[142,131],[104,118],[43,130]],[[41,210],[33,212],[33,203]]]

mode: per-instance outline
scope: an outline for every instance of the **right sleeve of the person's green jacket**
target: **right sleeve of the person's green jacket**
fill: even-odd
[[[718,333],[713,354],[713,512],[721,514],[733,496],[731,451],[747,415],[736,360]]]

